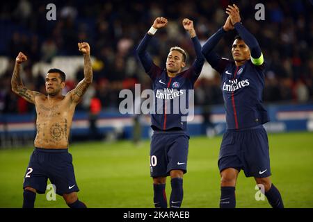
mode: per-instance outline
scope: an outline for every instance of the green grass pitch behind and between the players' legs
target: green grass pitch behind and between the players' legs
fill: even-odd
[[[218,207],[221,137],[191,137],[182,207]],[[285,207],[313,207],[313,133],[268,135],[272,181]],[[154,207],[149,168],[150,141],[85,142],[70,146],[79,199],[88,207]],[[22,207],[22,182],[33,148],[0,151],[0,207]],[[255,200],[255,181],[239,174],[236,207],[270,207]],[[170,178],[166,187],[170,197]],[[48,201],[37,195],[35,207],[67,207],[61,196]]]

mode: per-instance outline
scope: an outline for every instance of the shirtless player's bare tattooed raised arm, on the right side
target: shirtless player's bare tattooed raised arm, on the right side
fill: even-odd
[[[89,85],[93,82],[93,68],[90,60],[90,46],[87,42],[81,42],[78,44],[79,51],[83,53],[83,80],[77,84],[75,89],[69,92],[71,99],[74,103],[79,103],[83,94],[85,94]]]

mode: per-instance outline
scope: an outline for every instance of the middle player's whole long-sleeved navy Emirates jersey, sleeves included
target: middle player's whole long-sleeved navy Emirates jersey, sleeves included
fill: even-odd
[[[146,51],[152,37],[152,35],[146,34],[137,48],[138,57],[145,72],[152,79],[154,110],[151,114],[151,126],[154,130],[186,130],[189,96],[193,96],[193,92],[189,90],[193,90],[193,85],[204,64],[200,42],[198,37],[191,38],[196,55],[193,65],[175,77],[169,77],[166,69],[155,65]]]

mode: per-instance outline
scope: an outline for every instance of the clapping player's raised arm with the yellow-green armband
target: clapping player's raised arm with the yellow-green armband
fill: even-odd
[[[239,8],[233,4],[228,6],[226,13],[230,15],[230,20],[234,24],[234,28],[239,33],[243,41],[249,46],[251,53],[251,62],[254,65],[262,65],[264,62],[263,54],[257,39],[241,24],[241,17],[239,14]]]

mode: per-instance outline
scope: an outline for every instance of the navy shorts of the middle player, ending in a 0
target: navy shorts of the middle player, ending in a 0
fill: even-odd
[[[150,176],[170,176],[170,171],[187,172],[189,136],[184,130],[154,131],[150,144]]]

